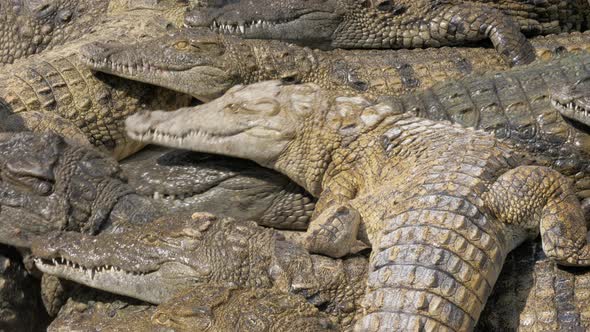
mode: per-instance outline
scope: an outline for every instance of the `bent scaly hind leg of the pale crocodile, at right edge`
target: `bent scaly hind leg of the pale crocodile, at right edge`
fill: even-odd
[[[550,168],[521,166],[506,172],[484,200],[502,222],[540,226],[543,250],[562,265],[590,265],[590,245],[579,200],[567,178]]]

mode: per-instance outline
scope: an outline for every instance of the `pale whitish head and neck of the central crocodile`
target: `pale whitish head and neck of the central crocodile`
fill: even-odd
[[[334,98],[316,84],[266,81],[192,108],[136,113],[125,124],[135,140],[250,159],[317,196],[333,150],[387,111],[369,105],[361,97]]]

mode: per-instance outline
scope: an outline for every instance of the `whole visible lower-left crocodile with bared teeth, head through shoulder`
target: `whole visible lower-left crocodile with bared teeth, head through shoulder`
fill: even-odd
[[[117,234],[51,232],[33,241],[47,274],[154,304],[205,285],[272,288],[305,297],[343,328],[359,315],[367,259],[310,255],[252,221],[166,215]]]

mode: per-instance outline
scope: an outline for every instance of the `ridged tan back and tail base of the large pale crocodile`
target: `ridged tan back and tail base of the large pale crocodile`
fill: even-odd
[[[481,199],[518,156],[489,134],[418,118],[380,140],[392,165],[383,172],[399,181],[355,199],[373,244],[356,329],[471,330],[507,253],[527,236]]]

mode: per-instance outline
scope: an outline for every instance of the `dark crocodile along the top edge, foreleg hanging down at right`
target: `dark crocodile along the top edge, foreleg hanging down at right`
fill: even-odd
[[[239,1],[197,9],[186,22],[248,38],[333,48],[426,48],[489,40],[510,65],[535,59],[518,23],[481,2]]]

